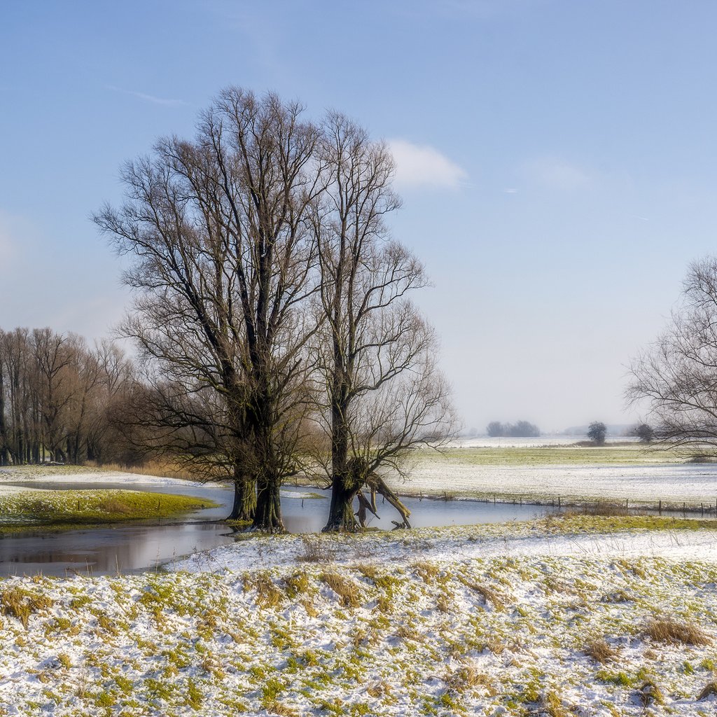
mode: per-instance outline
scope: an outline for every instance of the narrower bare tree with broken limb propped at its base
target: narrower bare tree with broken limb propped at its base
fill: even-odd
[[[316,395],[330,450],[318,457],[332,487],[324,530],[356,529],[353,499],[359,496],[363,523],[367,510],[376,512],[376,491],[397,508],[398,524],[409,526],[409,511],[384,475],[401,473],[412,449],[440,441],[454,422],[449,389],[435,365],[434,335],[407,300],[427,279],[384,224],[399,206],[386,146],[331,113],[320,162],[327,187],[314,214],[323,318],[316,342],[323,385]]]

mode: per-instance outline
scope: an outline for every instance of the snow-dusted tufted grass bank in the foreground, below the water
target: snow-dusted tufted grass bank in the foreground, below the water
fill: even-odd
[[[713,715],[717,533],[617,528],[252,538],[199,572],[8,579],[0,713]]]

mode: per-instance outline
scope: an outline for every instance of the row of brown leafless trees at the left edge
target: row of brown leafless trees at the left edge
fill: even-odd
[[[109,341],[50,328],[0,330],[0,465],[131,462],[118,432],[135,374]]]

